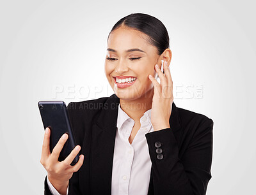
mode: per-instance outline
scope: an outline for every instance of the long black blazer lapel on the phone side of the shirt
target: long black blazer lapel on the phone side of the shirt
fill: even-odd
[[[92,129],[92,194],[111,194],[113,154],[119,98],[110,96]]]

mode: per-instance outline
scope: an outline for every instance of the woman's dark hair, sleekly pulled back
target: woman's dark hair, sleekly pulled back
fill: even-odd
[[[166,48],[169,48],[169,36],[166,27],[160,20],[151,15],[145,13],[131,13],[116,22],[109,32],[109,35],[122,25],[147,34],[149,43],[157,47],[159,55],[161,55]]]

